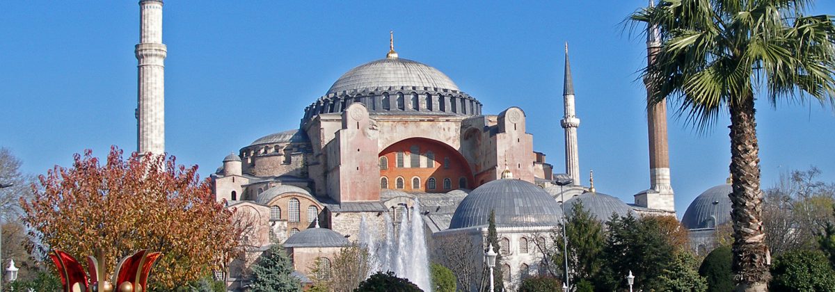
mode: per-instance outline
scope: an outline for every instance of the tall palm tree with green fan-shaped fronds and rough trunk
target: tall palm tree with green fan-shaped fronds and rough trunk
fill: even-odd
[[[731,116],[733,270],[737,291],[767,289],[754,100],[835,102],[835,25],[807,16],[812,0],[660,0],[630,15],[658,28],[655,62],[643,72],[648,105],[669,98],[705,130]],[[648,30],[652,31],[652,30]]]

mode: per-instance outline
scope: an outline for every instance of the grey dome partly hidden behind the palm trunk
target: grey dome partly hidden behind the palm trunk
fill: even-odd
[[[720,184],[701,193],[687,207],[681,224],[687,229],[715,228],[731,221],[731,184]]]

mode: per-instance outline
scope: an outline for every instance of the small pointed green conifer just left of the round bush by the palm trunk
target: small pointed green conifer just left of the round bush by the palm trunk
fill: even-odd
[[[661,271],[661,290],[673,292],[705,292],[707,280],[696,271],[698,261],[689,251],[676,253],[676,260]]]

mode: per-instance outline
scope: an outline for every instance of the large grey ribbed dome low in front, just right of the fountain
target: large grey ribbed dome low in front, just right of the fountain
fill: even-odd
[[[556,226],[562,218],[559,204],[535,184],[519,179],[498,179],[473,189],[458,204],[449,229],[487,226],[490,211],[497,227]]]

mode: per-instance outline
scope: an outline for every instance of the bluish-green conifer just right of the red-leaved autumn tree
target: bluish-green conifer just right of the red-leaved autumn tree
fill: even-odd
[[[252,286],[255,292],[290,292],[301,290],[301,283],[291,273],[293,264],[284,248],[273,244],[256,264],[252,265]]]

